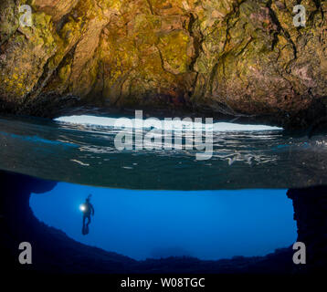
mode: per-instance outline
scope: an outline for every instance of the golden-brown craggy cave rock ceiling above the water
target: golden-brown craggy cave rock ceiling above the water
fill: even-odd
[[[34,0],[32,27],[19,26],[20,2],[0,4],[3,110],[36,114],[75,95],[291,127],[326,115],[327,1]],[[307,24],[296,28],[299,2]]]

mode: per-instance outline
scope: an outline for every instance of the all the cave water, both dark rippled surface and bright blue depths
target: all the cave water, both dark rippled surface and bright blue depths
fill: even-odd
[[[117,150],[116,118],[0,117],[0,168],[62,182],[31,208],[87,245],[141,260],[267,255],[297,239],[286,189],[327,182],[325,135],[217,121],[212,157],[199,161],[197,150]],[[89,193],[95,216],[82,235]]]

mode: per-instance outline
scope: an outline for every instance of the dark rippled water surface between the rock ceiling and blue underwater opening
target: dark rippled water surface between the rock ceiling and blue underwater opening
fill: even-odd
[[[309,140],[232,124],[214,131],[212,159],[197,161],[196,150],[118,151],[113,143],[118,131],[111,125],[3,117],[0,168],[59,182],[148,190],[327,183],[325,136]]]

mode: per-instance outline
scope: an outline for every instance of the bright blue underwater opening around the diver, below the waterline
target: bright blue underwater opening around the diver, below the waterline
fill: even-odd
[[[89,193],[95,216],[85,236],[79,205]],[[267,255],[297,237],[286,190],[131,191],[58,183],[33,194],[30,206],[69,237],[135,259]]]

